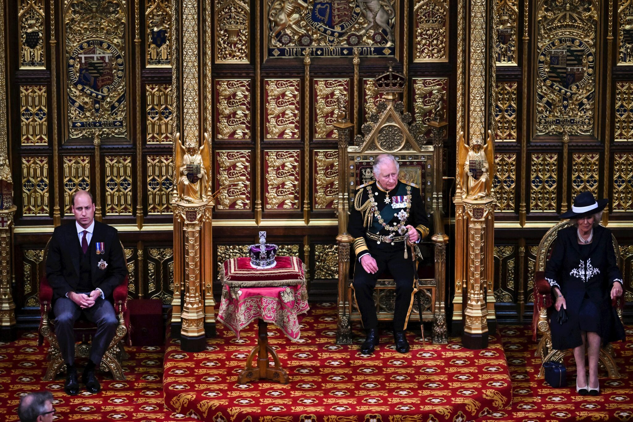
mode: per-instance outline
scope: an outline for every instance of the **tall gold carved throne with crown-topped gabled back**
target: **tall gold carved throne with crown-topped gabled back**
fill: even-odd
[[[433,138],[423,133],[422,125],[410,124],[411,113],[404,110],[399,95],[404,92],[403,75],[389,69],[374,80],[384,100],[377,104],[377,113],[372,113],[368,123],[363,124],[353,145],[349,145],[353,124],[349,123],[344,107],[339,104],[339,121],[335,123],[339,137],[339,197],[337,215],[339,220],[339,284],[338,284],[338,328],[337,344],[352,344],[351,323],[360,321],[358,306],[354,301],[353,281],[354,257],[350,252],[353,237],[347,233],[349,207],[353,206],[354,193],[360,185],[373,179],[373,160],[379,154],[392,154],[400,164],[399,178],[414,183],[420,188],[422,201],[430,222],[430,233],[420,242],[429,252],[426,259],[418,257],[418,282],[416,285],[420,301],[415,300],[409,321],[433,321],[432,340],[448,342],[446,329],[446,244],[442,214],[442,132],[445,122],[432,121]],[[376,283],[374,302],[379,321],[391,321],[394,316],[396,284],[390,275],[384,274]],[[420,321],[420,323],[422,322]]]

